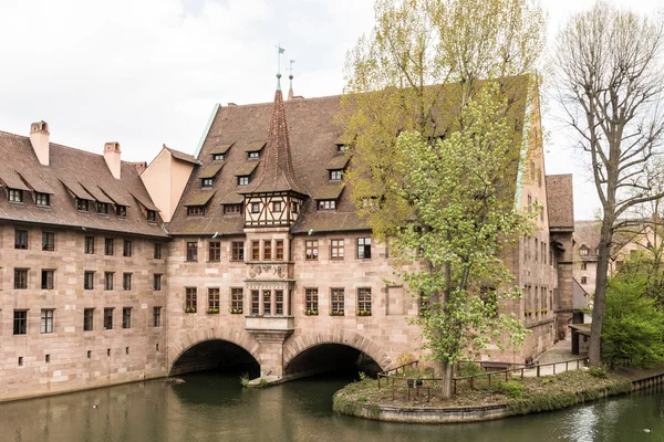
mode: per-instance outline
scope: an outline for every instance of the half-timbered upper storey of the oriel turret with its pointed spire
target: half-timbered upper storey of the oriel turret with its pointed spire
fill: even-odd
[[[245,196],[245,227],[291,225],[298,219],[299,208],[308,197],[293,170],[280,78],[281,74],[277,74],[268,141],[262,146],[260,143],[255,144],[252,150],[247,149],[248,155],[251,151],[259,152],[260,167],[256,178],[238,190]],[[248,157],[249,162],[250,160]]]

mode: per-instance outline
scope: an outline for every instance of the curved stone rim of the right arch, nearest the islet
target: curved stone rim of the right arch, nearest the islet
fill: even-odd
[[[312,332],[289,338],[283,345],[283,370],[302,352],[326,344],[352,347],[372,358],[381,369],[392,366],[392,359],[373,340],[351,330]]]

